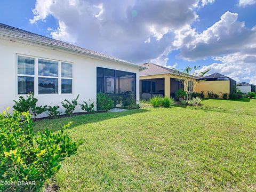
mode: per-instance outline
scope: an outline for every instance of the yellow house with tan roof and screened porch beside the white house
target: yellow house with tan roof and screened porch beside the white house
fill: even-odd
[[[175,92],[179,89],[191,90],[191,87],[184,87],[183,81],[188,80],[178,77],[171,68],[154,63],[144,63],[141,66],[147,68],[140,72],[141,99],[149,99],[156,95],[174,98]]]

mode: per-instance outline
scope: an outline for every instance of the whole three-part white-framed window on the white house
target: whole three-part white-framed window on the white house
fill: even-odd
[[[72,94],[73,63],[17,55],[17,93]]]

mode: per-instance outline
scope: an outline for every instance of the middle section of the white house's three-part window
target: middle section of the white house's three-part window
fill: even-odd
[[[38,59],[38,94],[58,93],[58,61]]]

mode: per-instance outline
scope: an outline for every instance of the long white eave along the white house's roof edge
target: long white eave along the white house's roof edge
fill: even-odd
[[[141,69],[141,70],[147,69],[146,67],[142,67],[142,66],[136,65],[136,64],[134,64],[134,63],[124,62],[124,61],[118,61],[118,60],[115,60],[115,59],[102,57],[102,56],[100,56],[100,55],[95,55],[95,54],[92,54],[92,53],[86,53],[86,52],[83,52],[83,51],[78,51],[78,50],[69,49],[69,48],[63,47],[63,46],[52,45],[52,44],[50,44],[50,43],[45,43],[45,42],[41,42],[41,41],[36,41],[36,40],[34,40],[34,39],[30,39],[30,38],[26,38],[26,37],[20,37],[20,36],[16,36],[16,35],[6,34],[6,33],[3,33],[3,32],[0,32],[0,35],[2,35],[2,36],[7,36],[7,37],[11,37],[11,38],[15,38],[15,39],[19,39],[19,40],[23,40],[23,41],[28,41],[28,42],[31,42],[31,43],[36,43],[36,44],[41,44],[41,45],[45,45],[45,46],[50,46],[50,47],[57,48],[57,49],[62,49],[62,50],[66,50],[66,51],[76,52],[76,53],[80,53],[80,54],[83,54],[83,55],[90,56],[90,57],[92,57],[92,58],[98,58],[98,59],[102,59],[102,60],[113,61],[113,62],[117,62],[117,63],[129,65],[129,66],[131,66],[131,67],[136,67],[136,68]]]

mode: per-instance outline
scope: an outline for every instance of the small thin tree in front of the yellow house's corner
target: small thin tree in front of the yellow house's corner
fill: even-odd
[[[184,79],[183,83],[184,86],[186,87],[186,89],[188,89],[188,87],[190,87],[190,90],[187,90],[187,99],[191,100],[192,99],[192,93],[194,90],[194,87],[196,85],[196,83],[198,83],[198,81],[196,81],[197,78],[201,78],[203,77],[206,73],[208,73],[210,71],[209,70],[205,70],[202,71],[200,73],[198,73],[198,68],[200,66],[194,66],[194,67],[186,67],[186,69],[183,69],[182,71],[180,71],[179,69],[175,69],[174,71],[174,75],[177,76],[180,79]]]

